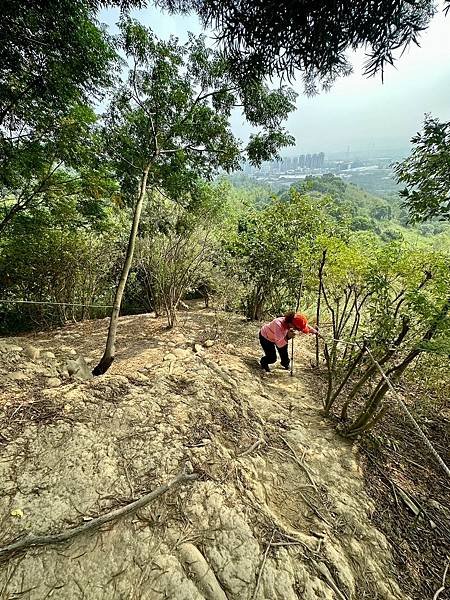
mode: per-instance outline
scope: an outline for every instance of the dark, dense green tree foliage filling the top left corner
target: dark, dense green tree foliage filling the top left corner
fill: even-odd
[[[4,0],[0,21],[0,126],[48,130],[111,83],[116,54],[83,0]]]

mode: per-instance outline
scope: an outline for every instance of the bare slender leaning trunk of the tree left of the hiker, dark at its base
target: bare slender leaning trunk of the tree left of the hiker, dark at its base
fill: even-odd
[[[134,209],[133,215],[133,224],[131,227],[130,237],[128,240],[127,252],[125,255],[125,262],[122,268],[122,274],[120,276],[119,285],[116,289],[116,295],[114,297],[113,309],[111,313],[111,319],[109,321],[109,329],[108,329],[108,337],[106,340],[106,348],[105,352],[102,356],[101,361],[92,371],[93,375],[103,375],[111,366],[115,354],[116,354],[116,333],[117,333],[117,323],[119,319],[120,307],[122,304],[123,292],[125,290],[125,286],[128,279],[128,274],[130,272],[131,263],[133,261],[134,247],[136,244],[136,235],[139,227],[139,221],[141,219],[142,206],[144,204],[145,194],[147,192],[147,179],[148,173],[150,170],[150,165],[146,167],[146,169],[142,173],[141,182],[139,185],[139,195],[136,202],[136,206]]]

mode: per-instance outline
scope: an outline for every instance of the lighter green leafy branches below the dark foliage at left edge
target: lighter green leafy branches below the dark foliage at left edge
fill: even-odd
[[[117,183],[101,160],[95,120],[91,108],[76,105],[38,137],[0,140],[0,234],[20,213],[52,210],[71,199],[86,217],[92,216],[91,225],[101,226],[104,205],[117,192]]]

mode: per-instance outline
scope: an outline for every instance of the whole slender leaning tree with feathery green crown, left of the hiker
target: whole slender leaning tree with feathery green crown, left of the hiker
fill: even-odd
[[[229,62],[208,48],[204,37],[190,36],[186,44],[161,41],[124,18],[118,44],[130,70],[105,117],[105,146],[123,198],[133,206],[133,223],[105,352],[94,375],[105,373],[114,360],[117,319],[146,197],[158,190],[182,201],[201,178],[238,169],[242,155],[259,164],[293,143],[282,122],[294,109],[295,93],[286,87],[271,91],[261,79],[236,81]],[[231,130],[237,107],[255,130],[245,145]]]

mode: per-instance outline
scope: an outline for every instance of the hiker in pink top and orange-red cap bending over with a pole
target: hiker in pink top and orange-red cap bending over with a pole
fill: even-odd
[[[284,317],[278,317],[261,327],[259,341],[264,350],[264,356],[261,358],[260,363],[265,371],[269,373],[269,365],[277,360],[275,348],[280,355],[281,366],[286,370],[289,369],[288,341],[295,336],[296,331],[319,335],[317,329],[308,325],[305,315],[294,311],[288,312]]]

